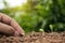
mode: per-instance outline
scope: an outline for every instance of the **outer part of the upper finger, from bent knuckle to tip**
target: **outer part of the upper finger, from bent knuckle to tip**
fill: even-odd
[[[11,20],[10,25],[11,25],[12,27],[14,27],[14,29],[15,29],[20,34],[23,34],[23,35],[25,34],[24,30],[21,28],[21,26],[18,26],[18,24],[17,24],[14,19]]]

